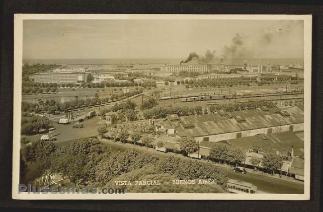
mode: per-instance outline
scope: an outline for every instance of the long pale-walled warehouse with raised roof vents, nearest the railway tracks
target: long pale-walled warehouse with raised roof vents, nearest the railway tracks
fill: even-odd
[[[304,131],[302,113],[278,110],[272,113],[264,111],[259,115],[255,110],[253,112],[253,115],[240,111],[217,111],[215,114],[184,117],[168,115],[165,120],[156,124],[156,130],[176,138],[192,137],[198,142],[218,142],[257,134]]]

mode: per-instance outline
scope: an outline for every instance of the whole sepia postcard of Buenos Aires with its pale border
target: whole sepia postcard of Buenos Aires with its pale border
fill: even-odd
[[[309,200],[311,15],[15,14],[13,199]]]

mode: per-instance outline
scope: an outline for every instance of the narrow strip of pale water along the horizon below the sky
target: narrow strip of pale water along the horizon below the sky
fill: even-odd
[[[23,59],[23,64],[67,64],[67,65],[113,65],[113,64],[179,64],[185,58],[143,58],[143,59]],[[243,61],[246,60],[249,65],[258,65],[258,58],[235,58],[234,60],[228,58],[224,59],[225,64],[242,65]],[[219,58],[214,59],[211,64],[218,64]],[[304,65],[303,58],[266,58],[261,60],[262,65],[279,64],[299,64]]]

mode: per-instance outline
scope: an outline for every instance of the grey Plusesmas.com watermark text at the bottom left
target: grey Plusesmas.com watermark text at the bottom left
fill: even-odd
[[[97,188],[94,186],[33,186],[31,184],[18,184],[18,193],[28,194],[125,194],[125,189]]]

